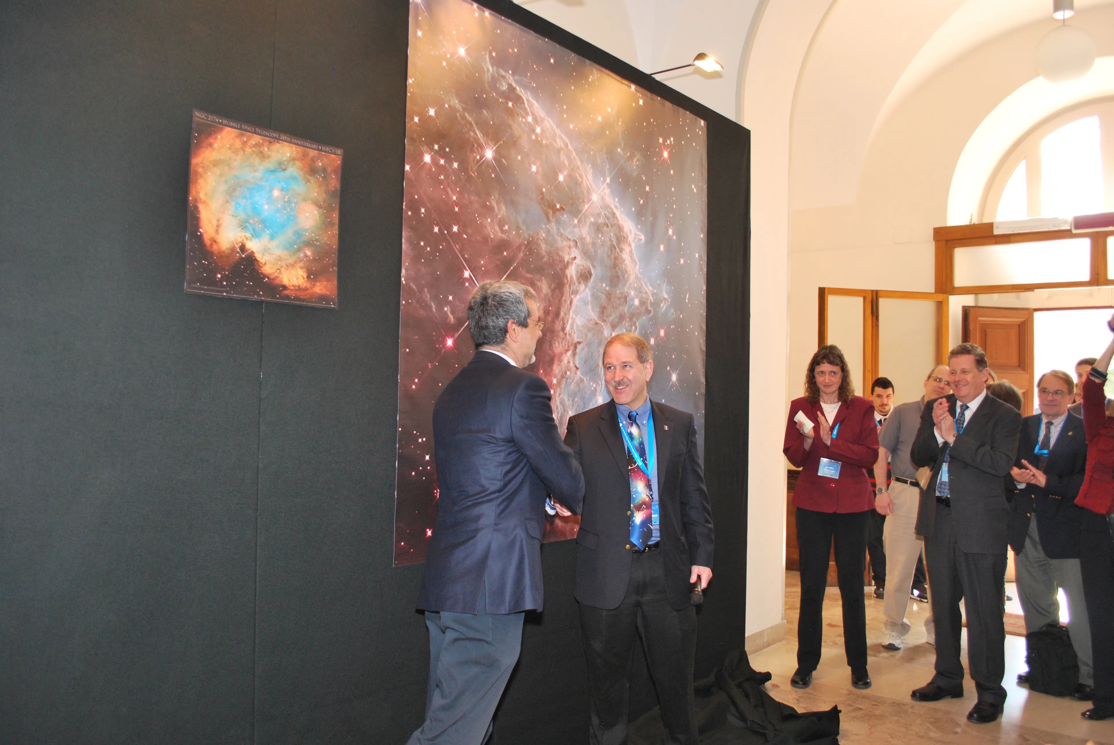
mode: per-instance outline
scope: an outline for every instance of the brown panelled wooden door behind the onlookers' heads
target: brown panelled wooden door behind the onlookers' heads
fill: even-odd
[[[1022,413],[1033,413],[1033,310],[1027,307],[964,306],[964,341],[986,352],[998,380],[1022,391]]]

